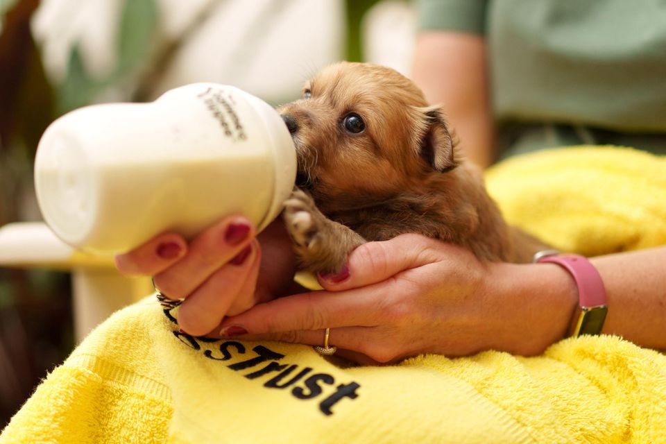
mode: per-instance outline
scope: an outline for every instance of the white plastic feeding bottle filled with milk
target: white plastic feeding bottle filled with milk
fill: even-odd
[[[196,83],[153,103],[80,108],[46,129],[35,157],[44,220],[83,250],[120,253],[166,230],[193,237],[228,214],[259,230],[296,178],[289,130],[270,105]]]

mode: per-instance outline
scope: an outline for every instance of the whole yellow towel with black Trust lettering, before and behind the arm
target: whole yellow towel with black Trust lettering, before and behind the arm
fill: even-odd
[[[555,154],[489,173],[510,219],[553,218],[547,239],[582,250],[663,242],[663,217],[654,220],[666,203],[662,159],[617,149]],[[617,169],[599,157],[616,154]],[[560,155],[590,177],[626,174],[620,185],[633,193],[548,179]],[[634,162],[645,168],[625,173]],[[509,178],[529,187],[514,193]],[[546,196],[565,186],[584,205],[561,196],[550,207]],[[580,211],[594,217],[585,223]],[[666,443],[666,357],[617,337],[566,339],[540,357],[490,351],[355,367],[302,345],[192,338],[178,333],[175,312],[151,297],[114,314],[42,382],[0,443]]]

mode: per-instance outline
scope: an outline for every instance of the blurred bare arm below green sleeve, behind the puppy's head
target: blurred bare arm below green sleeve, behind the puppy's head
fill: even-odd
[[[480,167],[494,157],[487,72],[483,37],[454,32],[418,36],[412,78],[430,103],[443,105],[463,153]]]

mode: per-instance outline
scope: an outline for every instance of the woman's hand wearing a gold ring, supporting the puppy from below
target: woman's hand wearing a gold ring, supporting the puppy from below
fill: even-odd
[[[329,327],[339,355],[361,363],[490,348],[533,355],[565,336],[577,299],[554,264],[485,263],[417,234],[364,244],[340,275],[319,280],[327,291],[226,318],[223,336],[323,345]]]

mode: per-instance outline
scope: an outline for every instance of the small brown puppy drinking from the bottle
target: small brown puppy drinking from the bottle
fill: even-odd
[[[339,271],[357,246],[407,232],[488,261],[529,262],[544,247],[506,225],[441,110],[397,71],[332,65],[278,111],[305,191],[284,210],[302,268]]]

